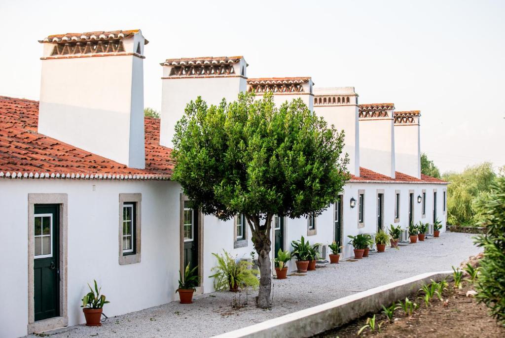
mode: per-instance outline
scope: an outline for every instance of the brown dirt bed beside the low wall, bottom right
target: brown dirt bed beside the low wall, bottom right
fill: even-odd
[[[449,291],[443,295],[444,301],[439,301],[435,296],[428,308],[424,301],[418,298],[423,295],[422,293],[419,296],[412,295],[409,299],[419,304],[419,308],[412,316],[406,316],[402,309],[397,309],[393,323],[388,323],[384,314],[376,314],[376,322],[384,322],[381,331],[370,332],[367,328],[360,336],[381,338],[505,337],[505,326],[496,323],[488,315],[485,305],[477,304],[473,296],[467,297],[467,292],[472,290],[472,284],[465,281],[463,289],[453,291],[453,284],[449,281]],[[357,337],[360,328],[366,324],[367,317],[372,316],[373,313],[315,337]]]

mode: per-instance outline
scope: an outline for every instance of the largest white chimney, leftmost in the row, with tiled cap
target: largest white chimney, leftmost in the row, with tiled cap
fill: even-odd
[[[49,35],[38,132],[129,167],[145,167],[140,30]]]

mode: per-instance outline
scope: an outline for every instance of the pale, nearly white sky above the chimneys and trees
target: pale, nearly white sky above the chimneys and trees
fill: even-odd
[[[441,172],[505,164],[505,1],[0,2],[0,95],[38,99],[37,42],[141,29],[144,105],[161,106],[159,65],[244,55],[248,77],[311,76],[360,103],[421,110],[421,151]]]

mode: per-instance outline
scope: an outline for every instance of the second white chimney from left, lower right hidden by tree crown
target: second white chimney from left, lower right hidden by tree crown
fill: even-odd
[[[163,66],[160,144],[173,148],[177,121],[198,96],[207,104],[235,101],[245,91],[247,63],[242,56],[167,59]]]

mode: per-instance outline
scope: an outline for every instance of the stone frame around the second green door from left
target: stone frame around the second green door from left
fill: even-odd
[[[181,273],[183,273],[184,269],[186,268],[184,266],[184,201],[189,201],[189,198],[181,193],[181,198],[180,198],[180,215],[179,215],[179,255],[180,255],[180,262],[179,262],[179,268]],[[193,209],[194,212],[194,209]],[[204,280],[204,214],[201,212],[198,212],[198,219],[197,219],[197,224],[198,224],[198,276],[199,281],[198,281],[198,287],[196,287],[195,295],[203,294],[204,293],[204,286],[202,281]],[[193,229],[194,231],[194,229]]]

